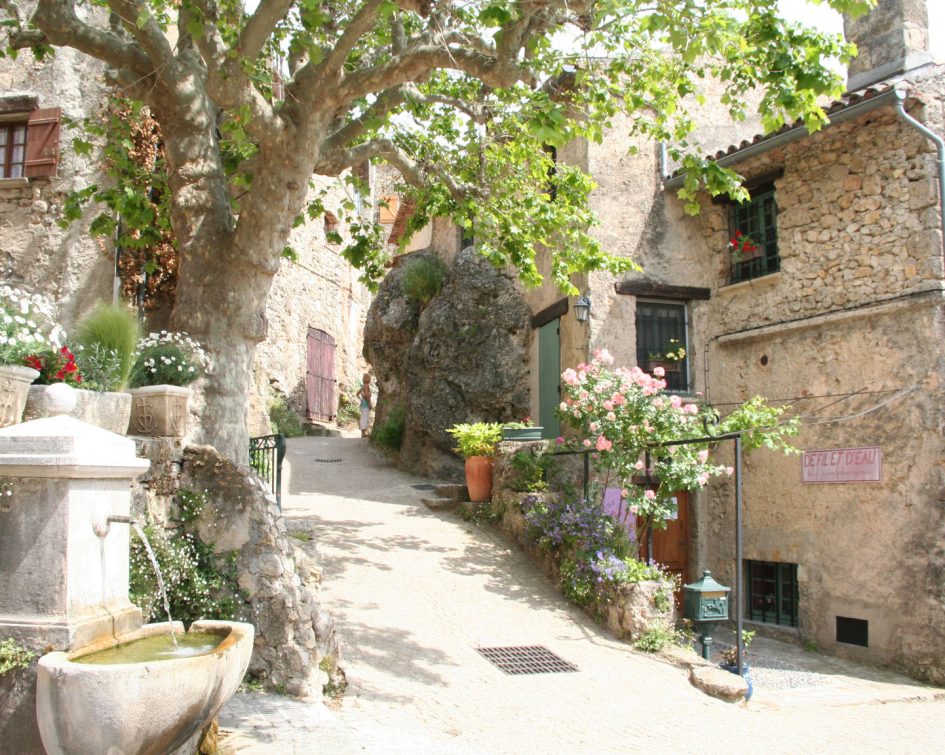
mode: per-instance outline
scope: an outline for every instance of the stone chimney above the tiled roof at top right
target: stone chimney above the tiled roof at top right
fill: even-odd
[[[844,16],[843,34],[860,51],[847,70],[849,91],[932,60],[926,0],[879,0],[859,18]]]

